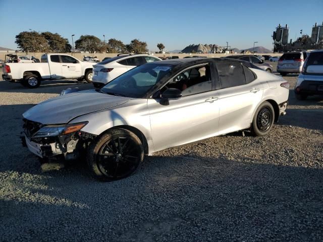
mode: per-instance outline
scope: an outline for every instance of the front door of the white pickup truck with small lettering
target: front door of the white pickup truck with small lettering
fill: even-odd
[[[70,56],[61,54],[61,66],[62,66],[62,76],[63,77],[80,77],[82,76],[82,69],[80,62]],[[94,63],[93,63],[94,64]]]

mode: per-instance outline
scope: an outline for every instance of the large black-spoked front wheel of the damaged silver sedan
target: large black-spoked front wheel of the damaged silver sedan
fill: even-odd
[[[140,139],[125,129],[111,129],[93,141],[87,154],[92,174],[102,181],[131,175],[143,160]]]

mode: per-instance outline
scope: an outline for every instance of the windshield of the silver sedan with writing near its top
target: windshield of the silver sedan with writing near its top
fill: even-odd
[[[145,64],[122,74],[100,89],[101,92],[142,98],[161,78],[170,75],[173,65]]]

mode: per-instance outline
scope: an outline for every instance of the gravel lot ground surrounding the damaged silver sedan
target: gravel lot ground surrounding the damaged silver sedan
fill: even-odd
[[[0,81],[0,241],[323,241],[323,97],[291,91],[266,137],[160,151],[100,183],[83,161],[41,168],[20,144],[21,114],[70,86],[92,88]]]

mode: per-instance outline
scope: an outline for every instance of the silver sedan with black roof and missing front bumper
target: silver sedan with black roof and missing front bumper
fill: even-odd
[[[243,63],[150,62],[101,89],[51,98],[23,113],[23,144],[41,158],[86,153],[94,176],[116,180],[145,154],[240,130],[264,136],[286,113],[289,84]]]

